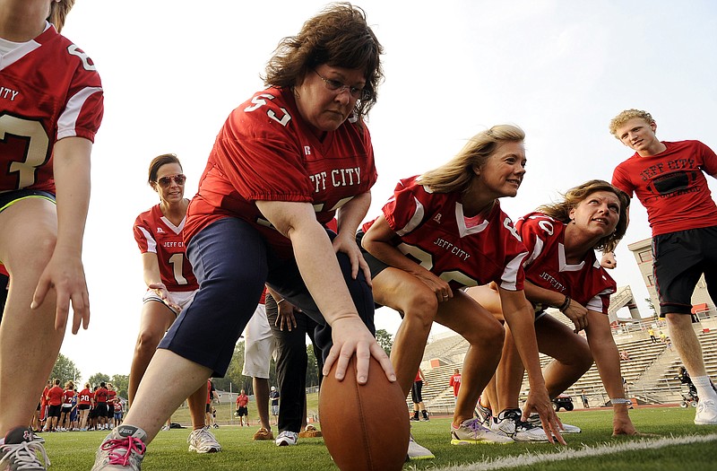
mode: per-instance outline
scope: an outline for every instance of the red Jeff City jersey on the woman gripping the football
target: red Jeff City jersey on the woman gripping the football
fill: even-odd
[[[222,217],[238,217],[262,232],[272,249],[290,257],[289,239],[264,219],[256,200],[311,203],[316,219],[325,224],[374,183],[366,126],[350,118],[320,141],[298,114],[292,92],[257,92],[231,112],[217,136],[189,205],[185,239]]]

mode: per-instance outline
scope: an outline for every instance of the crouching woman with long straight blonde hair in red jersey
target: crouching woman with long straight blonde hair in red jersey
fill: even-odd
[[[463,146],[452,160],[423,175],[402,179],[383,214],[363,226],[376,302],[403,320],[391,360],[404,394],[411,388],[433,322],[463,336],[470,347],[462,368],[451,426],[453,444],[505,443],[528,430],[491,432],[473,418],[479,392],[496,371],[504,331],[462,288],[495,281],[505,318],[528,366],[528,408],[563,442],[540,374],[532,313],[523,294],[523,247],[498,198],[516,196],[525,174],[523,130],[493,126]],[[552,440],[540,431],[543,440]]]

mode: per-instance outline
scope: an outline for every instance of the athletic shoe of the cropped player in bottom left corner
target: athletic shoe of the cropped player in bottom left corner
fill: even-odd
[[[4,445],[0,445],[0,469],[45,471],[50,466],[50,460],[42,446],[44,442],[24,427],[7,432]]]

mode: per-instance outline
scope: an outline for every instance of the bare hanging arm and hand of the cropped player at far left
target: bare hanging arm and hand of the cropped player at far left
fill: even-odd
[[[54,177],[57,200],[57,241],[32,298],[35,309],[51,288],[56,291],[55,328],[64,330],[73,307],[73,334],[90,323],[90,295],[82,266],[82,237],[90,205],[91,141],[66,137],[56,142]]]

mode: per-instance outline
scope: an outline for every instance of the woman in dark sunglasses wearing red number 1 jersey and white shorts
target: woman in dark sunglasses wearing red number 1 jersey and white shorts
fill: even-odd
[[[199,289],[186,257],[182,234],[189,200],[184,197],[186,177],[177,155],[165,153],[152,159],[148,182],[160,196],[160,203],[134,221],[134,240],[142,252],[147,292],[144,293],[140,333],[129,373],[127,397],[130,406],[157,345]],[[212,432],[204,429],[206,397],[207,386],[203,383],[187,398],[193,428],[189,450],[198,453],[221,450]]]

